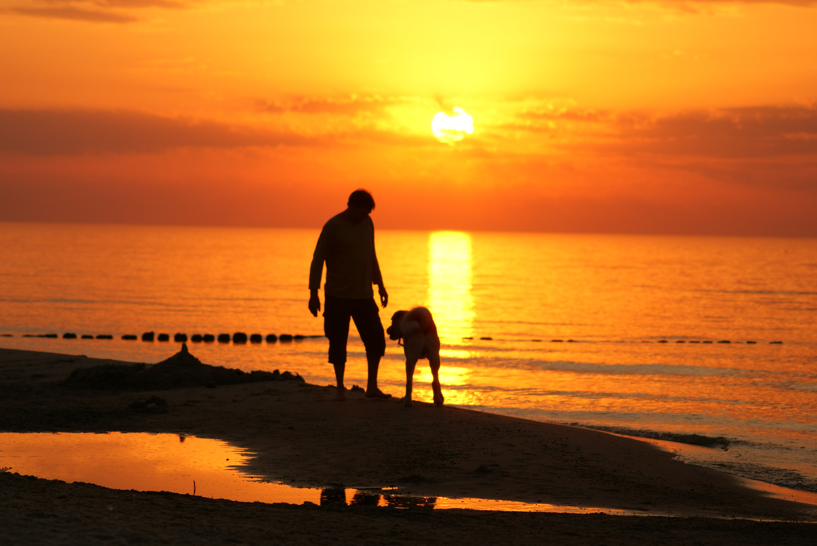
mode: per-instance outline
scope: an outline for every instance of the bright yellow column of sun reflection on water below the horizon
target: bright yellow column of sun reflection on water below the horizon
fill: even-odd
[[[471,235],[433,231],[428,237],[428,303],[443,342],[474,335]]]

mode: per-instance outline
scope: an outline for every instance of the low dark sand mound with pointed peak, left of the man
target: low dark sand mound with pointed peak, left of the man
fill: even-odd
[[[65,379],[65,386],[142,391],[176,387],[217,387],[258,381],[300,381],[298,374],[240,369],[203,364],[181,344],[181,351],[167,360],[148,367],[145,364],[105,364],[91,368],[77,368]]]

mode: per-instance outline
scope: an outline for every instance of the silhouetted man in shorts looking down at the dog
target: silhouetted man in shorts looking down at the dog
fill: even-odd
[[[374,224],[369,214],[374,199],[366,190],[355,190],[349,196],[346,210],[324,224],[315,245],[309,272],[309,310],[320,311],[320,277],[326,262],[324,284],[324,334],[329,338],[329,363],[335,368],[336,401],[346,400],[343,374],[346,371],[346,342],[349,319],[355,320],[360,339],[366,347],[368,362],[367,398],[390,398],[377,388],[377,368],[386,352],[386,336],[380,322],[380,311],[373,300],[372,284],[383,307],[389,294],[383,286],[380,264],[374,252]]]

